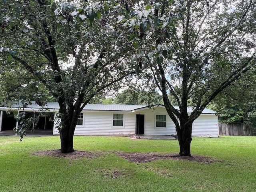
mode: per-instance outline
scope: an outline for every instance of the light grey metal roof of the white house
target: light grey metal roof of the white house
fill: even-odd
[[[143,110],[144,108],[150,108],[150,107],[163,107],[162,104],[154,104],[152,106],[148,105],[124,105],[124,104],[87,104],[83,110],[85,111],[123,111],[123,112],[133,112],[136,110]],[[0,108],[23,108],[22,104],[17,102],[11,102],[9,104],[1,104]],[[28,106],[24,107],[25,109],[34,109],[34,110],[40,110],[42,107],[36,104],[34,101],[32,104],[29,104]],[[56,111],[59,110],[59,104],[58,102],[48,102],[44,108],[48,108],[49,110]],[[174,106],[177,110],[179,110],[178,106]],[[193,107],[188,107],[188,113],[191,113],[193,110]],[[204,109],[203,114],[215,114],[216,112],[210,109]]]

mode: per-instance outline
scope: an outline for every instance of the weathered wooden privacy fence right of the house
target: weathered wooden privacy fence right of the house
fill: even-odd
[[[252,135],[252,128],[246,124],[219,124],[220,135]]]

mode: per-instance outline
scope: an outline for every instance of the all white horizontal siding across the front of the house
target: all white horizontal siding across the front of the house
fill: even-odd
[[[112,126],[113,114],[124,114],[124,126]],[[156,107],[154,110],[138,110],[136,112],[84,112],[83,126],[76,126],[75,135],[130,135],[135,134],[136,114],[144,115],[144,135],[176,134],[175,125],[166,110]],[[156,128],[156,115],[166,115],[166,128]],[[59,132],[54,125],[54,135]],[[218,137],[218,116],[201,114],[193,123],[192,136]]]

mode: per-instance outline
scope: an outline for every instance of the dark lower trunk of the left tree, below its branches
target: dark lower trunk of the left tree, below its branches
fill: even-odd
[[[60,150],[62,153],[70,153],[74,151],[73,137],[76,125],[64,125],[60,130]]]

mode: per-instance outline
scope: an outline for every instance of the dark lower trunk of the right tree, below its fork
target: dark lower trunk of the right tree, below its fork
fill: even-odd
[[[192,141],[192,124],[180,123],[180,130],[177,130],[178,141],[180,144],[180,156],[191,156],[190,144]]]

